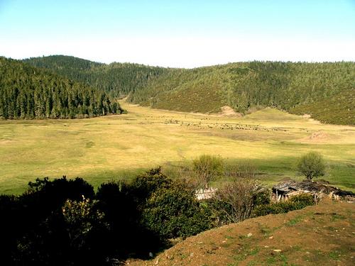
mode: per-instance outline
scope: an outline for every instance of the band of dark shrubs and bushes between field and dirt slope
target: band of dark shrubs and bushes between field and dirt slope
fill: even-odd
[[[36,179],[19,196],[0,196],[0,248],[6,254],[2,260],[6,265],[115,265],[130,257],[152,257],[176,239],[217,226],[315,204],[309,194],[271,203],[270,190],[251,178],[254,167],[241,164],[233,169],[228,182],[200,201],[201,182],[171,179],[161,167],[131,182],[103,183],[96,193],[79,177]],[[198,181],[201,174],[209,174],[202,177],[204,187],[211,181],[206,177],[223,175],[223,170],[221,157],[202,155],[192,164]],[[300,217],[288,226],[299,223]],[[257,253],[258,248],[248,251]]]

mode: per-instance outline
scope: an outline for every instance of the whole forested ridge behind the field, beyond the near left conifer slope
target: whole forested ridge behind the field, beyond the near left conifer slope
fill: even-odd
[[[23,60],[158,109],[239,113],[271,106],[323,123],[355,125],[355,62],[236,62],[191,70],[109,65],[53,55]]]

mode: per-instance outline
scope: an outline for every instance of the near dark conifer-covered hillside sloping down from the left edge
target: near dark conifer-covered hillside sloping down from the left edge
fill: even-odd
[[[122,111],[104,92],[0,57],[0,118],[84,118]]]

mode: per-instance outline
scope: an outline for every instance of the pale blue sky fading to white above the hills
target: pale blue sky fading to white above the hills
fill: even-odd
[[[187,68],[355,61],[355,0],[0,0],[0,55]]]

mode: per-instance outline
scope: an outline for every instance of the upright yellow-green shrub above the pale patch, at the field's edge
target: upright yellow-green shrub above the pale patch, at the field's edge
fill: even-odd
[[[201,155],[192,161],[192,165],[200,183],[206,188],[214,177],[223,174],[223,160],[218,156]]]

